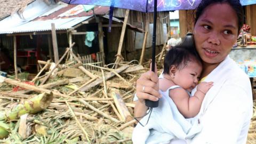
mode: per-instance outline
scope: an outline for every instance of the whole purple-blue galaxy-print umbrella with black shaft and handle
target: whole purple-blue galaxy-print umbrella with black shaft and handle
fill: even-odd
[[[119,7],[141,12],[154,12],[153,39],[152,39],[152,67],[155,70],[155,47],[156,47],[156,12],[171,10],[193,10],[201,0],[61,0],[68,4],[101,5]],[[241,0],[242,5],[255,4],[256,0]],[[111,9],[110,9],[111,10]],[[113,9],[112,9],[113,10]],[[111,12],[111,11],[110,11]],[[111,15],[110,15],[111,16]],[[146,100],[146,106],[157,107],[158,101]]]

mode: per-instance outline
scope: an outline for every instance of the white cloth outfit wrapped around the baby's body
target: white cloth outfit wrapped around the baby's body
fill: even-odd
[[[180,114],[177,106],[169,97],[169,91],[180,87],[171,86],[165,92],[159,91],[162,98],[159,99],[159,106],[153,108],[148,124],[146,126],[137,126],[133,130],[132,141],[135,144],[142,143],[169,143],[173,139],[190,140],[202,127],[198,117],[185,118]],[[149,114],[140,120],[140,123],[146,124]]]

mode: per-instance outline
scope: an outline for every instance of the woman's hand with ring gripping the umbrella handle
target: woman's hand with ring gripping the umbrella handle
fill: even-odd
[[[141,103],[145,104],[145,99],[157,101],[161,98],[161,94],[158,90],[158,76],[157,73],[154,73],[153,71],[143,73],[137,80],[136,94]]]

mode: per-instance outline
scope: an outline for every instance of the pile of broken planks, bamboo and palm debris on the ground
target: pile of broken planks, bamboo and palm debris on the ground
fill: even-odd
[[[147,69],[83,64],[70,49],[57,63],[39,61],[30,81],[28,74],[2,78],[1,143],[131,142],[135,82]]]

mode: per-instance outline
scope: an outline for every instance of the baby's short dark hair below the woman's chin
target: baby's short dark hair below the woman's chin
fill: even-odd
[[[202,65],[202,59],[199,57],[194,37],[192,34],[187,34],[178,45],[172,47],[164,58],[163,74],[170,74],[171,66],[177,67],[179,70],[186,67],[189,61],[195,61]]]

